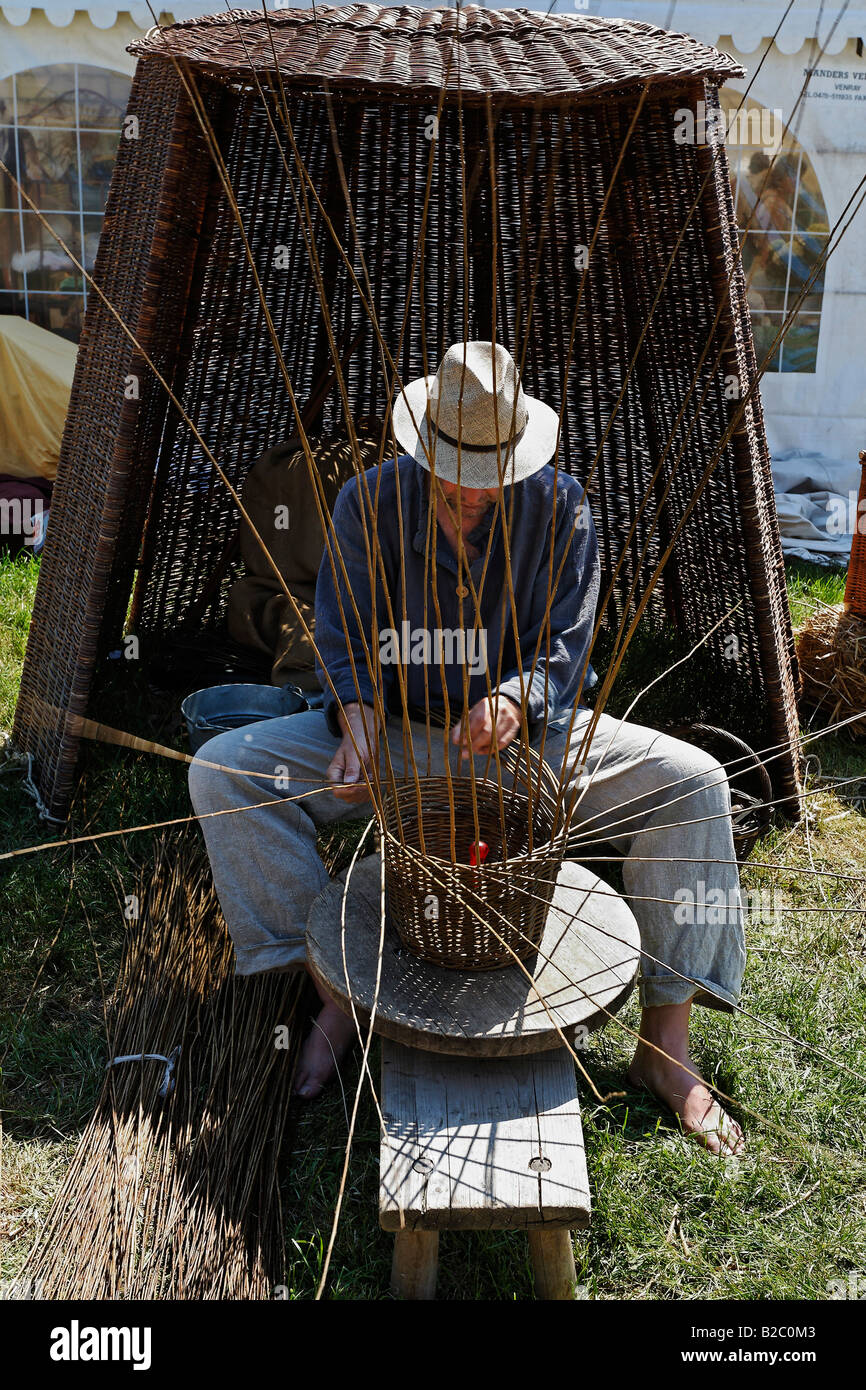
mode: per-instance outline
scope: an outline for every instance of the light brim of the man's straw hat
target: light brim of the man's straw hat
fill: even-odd
[[[559,416],[544,400],[525,392],[523,399],[528,411],[527,427],[510,452],[505,448],[499,453],[495,448],[489,453],[457,450],[456,445],[446,443],[435,432],[430,439],[423,439],[418,425],[421,430],[430,425],[427,402],[435,379],[435,375],[430,375],[407,382],[393,402],[393,432],[398,443],[428,473],[432,471],[428,455],[432,455],[435,474],[443,482],[459,482],[461,488],[498,488],[502,481],[509,486],[538,473],[556,453]]]

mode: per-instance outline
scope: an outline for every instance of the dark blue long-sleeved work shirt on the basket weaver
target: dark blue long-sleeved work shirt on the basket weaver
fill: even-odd
[[[506,553],[498,503],[488,509],[468,537],[470,543],[478,550],[478,557],[471,562],[468,578],[466,564],[463,566],[461,588],[466,592],[461,613],[457,592],[460,587],[457,556],[438,521],[435,564],[432,530],[430,557],[425,560],[431,491],[427,470],[410,455],[403,455],[396,463],[393,459],[386,460],[381,470],[368,468],[364,477],[366,486],[361,478],[354,477],[341,489],[334,507],[334,530],[385,709],[391,713],[399,713],[402,709],[396,673],[399,664],[405,662],[407,705],[421,710],[427,706],[442,710],[445,708],[442,656],[445,655],[445,685],[449,696],[449,723],[452,724],[463,712],[464,666],[468,667],[470,708],[487,696],[489,689],[499,689],[500,694],[520,705],[520,671],[523,670],[530,726],[538,726],[545,714],[548,720],[552,720],[566,710],[570,712],[580,696],[580,678],[592,638],[599,591],[598,541],[589,503],[584,499],[581,505],[584,491],[581,484],[562,470],[555,473],[552,464],[545,464],[538,473],[503,489],[503,510],[510,537],[514,623],[507,596]],[[377,492],[375,531],[378,532],[381,567],[371,543]],[[545,609],[555,502],[556,534],[553,537],[552,582],[556,582],[559,575],[559,584],[550,605],[548,655]],[[400,517],[405,549],[400,545]],[[488,541],[489,559],[485,573]],[[375,632],[373,585],[367,563],[368,545],[375,566]],[[357,684],[352,673],[352,660],[327,548],[316,585],[316,644],[342,703],[357,701],[360,695],[366,705],[374,706],[373,681],[364,656],[364,642],[359,635],[336,556],[335,563]],[[391,595],[392,614],[389,614],[385,602],[384,584]],[[474,628],[484,631],[484,641],[478,631],[473,632]],[[518,644],[514,641],[516,631],[520,638]],[[438,638],[436,632],[441,634]],[[542,632],[542,638],[538,660],[530,684],[539,632]],[[374,648],[382,656],[381,676],[374,659]],[[502,666],[499,666],[500,652]],[[489,671],[489,685],[485,667]],[[546,709],[545,670],[548,674]],[[500,674],[498,676],[498,673]],[[317,676],[325,691],[324,708],[328,727],[339,735],[338,705],[318,663]],[[584,688],[594,685],[595,681],[595,673],[588,666]],[[421,717],[424,716],[421,714]]]

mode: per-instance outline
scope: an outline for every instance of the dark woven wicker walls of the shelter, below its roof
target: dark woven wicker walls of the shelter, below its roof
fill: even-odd
[[[310,13],[302,14],[309,24]],[[492,13],[480,14],[488,18],[478,24],[496,28]],[[520,29],[516,18],[509,24],[530,42],[531,26]],[[232,17],[221,17],[210,28],[177,29],[195,35],[203,28],[220,49],[232,39]],[[566,28],[577,33],[571,21]],[[152,35],[149,42],[161,40]],[[660,39],[652,42],[664,51]],[[220,81],[199,75],[196,85],[217,121],[303,409],[334,368],[296,215],[297,161],[285,135],[278,147],[261,95],[249,82],[227,85],[228,76],[228,68]],[[752,746],[792,748],[792,635],[756,395],[740,428],[730,430],[737,402],[726,392],[726,378],[737,373],[749,391],[756,364],[741,270],[731,277],[735,231],[727,165],[724,152],[713,167],[712,150],[671,139],[676,110],[714,100],[714,88],[694,74],[674,92],[656,88],[624,158],[634,103],[532,108],[505,101],[491,113],[495,200],[487,111],[448,104],[431,145],[435,101],[425,106],[416,89],[410,95],[411,101],[406,93],[400,100],[334,95],[328,108],[320,93],[288,93],[299,157],[316,190],[303,196],[352,416],[381,418],[393,391],[360,302],[357,284],[366,292],[366,277],[403,379],[432,370],[445,348],[464,335],[495,335],[523,361],[530,392],[555,406],[564,393],[560,466],[585,478],[598,453],[589,500],[602,592],[619,566],[607,624],[634,612],[671,548],[645,620],[667,619],[694,639],[719,624],[701,653],[719,677],[719,708],[702,717],[731,727],[728,706],[735,701],[753,710],[749,726],[738,730]],[[240,485],[264,449],[295,432],[295,416],[234,213],[206,167],[195,114],[171,64],[149,51],[139,63],[133,101],[147,114],[150,138],[140,149],[121,145],[108,207],[115,215],[106,221],[97,278],[118,311],[138,325],[147,350],[164,361],[202,436]],[[267,101],[282,132],[279,104],[272,96]],[[428,181],[428,217],[416,257]],[[581,291],[575,253],[592,240],[609,189]],[[96,663],[117,642],[142,528],[133,612],[145,642],[158,644],[192,624],[217,627],[234,577],[229,567],[211,584],[236,528],[236,509],[164,395],[147,386],[139,402],[122,399],[126,345],[92,297],[15,726],[58,815],[68,803],[76,744],[57,710],[86,709]],[[336,391],[307,427],[324,436],[345,434]],[[641,506],[648,488],[649,506]],[[202,607],[199,596],[211,592]],[[735,620],[726,627],[731,610]],[[731,630],[738,638],[735,663],[726,656]],[[796,794],[790,748],[771,771],[778,796]]]

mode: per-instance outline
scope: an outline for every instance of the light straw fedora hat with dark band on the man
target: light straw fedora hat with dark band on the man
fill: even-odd
[[[393,403],[400,446],[428,473],[432,455],[436,477],[461,488],[538,473],[556,452],[557,430],[557,413],[527,396],[500,343],[455,343],[434,375],[410,381]]]

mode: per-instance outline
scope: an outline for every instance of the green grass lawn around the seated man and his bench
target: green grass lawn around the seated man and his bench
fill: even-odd
[[[33,562],[0,564],[0,726],[14,710]],[[816,596],[835,602],[838,573],[790,571],[795,620]],[[635,680],[638,678],[635,673]],[[122,698],[124,720],[115,713]],[[113,721],[172,741],[177,719],[145,687],[115,673]],[[663,710],[662,710],[663,713]],[[822,770],[863,776],[851,739],[822,742]],[[72,808],[79,834],[188,812],[181,766],[89,746]],[[752,922],[742,1004],[748,1017],[696,1011],[695,1055],[738,1101],[749,1156],[720,1163],[683,1140],[655,1102],[626,1087],[631,1041],[620,1023],[594,1034],[585,1063],[607,1099],[582,1084],[592,1227],[575,1238],[578,1276],[596,1298],[823,1298],[827,1283],[866,1269],[866,980],[863,885],[802,876],[805,867],[866,874],[863,816],[822,791],[808,823],[781,824],[751,865],[744,888],[771,890],[785,906]],[[0,778],[0,851],[53,838],[14,776]],[[122,895],[150,859],[153,833],[0,863],[0,1056],[6,1131],[0,1179],[0,1277],[14,1277],[75,1147],[104,1066],[103,990],[124,940]],[[798,913],[795,909],[809,908]],[[855,912],[852,909],[859,909]],[[635,1027],[637,1002],[620,1015]],[[853,1074],[852,1074],[853,1073]],[[377,1062],[374,1054],[374,1074]],[[357,1077],[352,1062],[348,1090]],[[292,1298],[314,1294],[343,1162],[338,1090],[292,1118],[284,1211]],[[332,1298],[386,1297],[391,1237],[377,1222],[378,1127],[366,1095],[331,1266]],[[439,1297],[527,1300],[525,1241],[512,1233],[446,1233]]]

